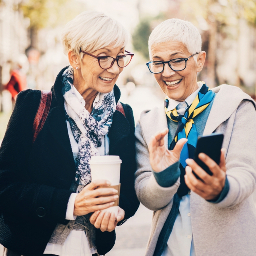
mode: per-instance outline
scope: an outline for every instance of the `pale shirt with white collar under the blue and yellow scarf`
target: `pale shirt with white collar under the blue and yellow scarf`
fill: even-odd
[[[179,104],[184,104],[184,108],[177,109],[178,114],[184,115],[187,106],[192,104],[203,83],[198,82],[198,86],[199,88],[184,100],[187,104],[184,101],[182,103],[168,98],[169,105],[167,111],[175,109]],[[181,198],[179,213],[162,256],[195,256],[190,216],[190,193]]]

